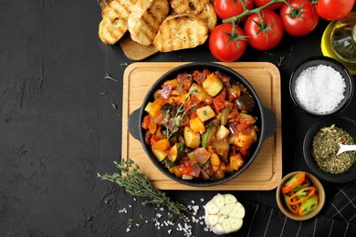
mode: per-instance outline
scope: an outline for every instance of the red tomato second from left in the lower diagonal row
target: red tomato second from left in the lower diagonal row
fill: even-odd
[[[258,50],[269,50],[279,44],[283,37],[283,26],[277,13],[269,9],[263,9],[260,12],[248,15],[244,32],[247,36],[247,42],[250,46]]]

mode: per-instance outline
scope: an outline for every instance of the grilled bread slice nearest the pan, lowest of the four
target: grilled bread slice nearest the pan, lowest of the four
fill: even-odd
[[[208,37],[208,27],[195,15],[170,15],[160,26],[153,40],[161,52],[202,45]]]

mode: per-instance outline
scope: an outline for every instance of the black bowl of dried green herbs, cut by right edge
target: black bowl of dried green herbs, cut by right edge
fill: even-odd
[[[356,121],[334,117],[319,120],[307,132],[303,153],[309,169],[321,180],[342,183],[356,179],[356,151],[336,155],[339,145],[356,144]]]

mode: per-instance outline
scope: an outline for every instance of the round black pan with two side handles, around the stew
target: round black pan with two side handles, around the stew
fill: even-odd
[[[258,139],[257,142],[250,148],[251,155],[250,157],[246,158],[245,165],[232,174],[226,174],[224,179],[183,180],[181,178],[177,178],[174,174],[170,173],[169,170],[167,170],[154,157],[151,147],[148,146],[144,141],[145,131],[144,129],[141,128],[141,122],[144,116],[146,115],[144,108],[146,107],[148,102],[153,100],[152,98],[153,98],[154,91],[161,88],[162,83],[164,81],[175,78],[179,73],[183,73],[183,72],[190,73],[193,72],[194,70],[203,70],[203,69],[209,69],[211,72],[220,71],[221,73],[224,73],[226,76],[236,80],[236,82],[240,83],[242,86],[246,87],[249,90],[250,95],[253,98],[255,98],[256,101],[256,107],[254,111],[252,111],[250,114],[257,117],[257,128],[259,129],[257,133]],[[129,117],[129,131],[131,135],[135,139],[141,140],[143,149],[146,151],[148,157],[150,158],[150,160],[152,160],[152,163],[158,168],[158,170],[161,170],[162,173],[164,173],[167,177],[169,177],[172,180],[176,180],[177,182],[189,186],[194,186],[194,187],[214,186],[214,185],[224,183],[228,180],[235,179],[238,175],[243,173],[252,164],[252,162],[254,162],[254,160],[257,158],[258,151],[260,150],[263,141],[268,137],[272,136],[275,133],[276,129],[277,129],[276,115],[272,110],[265,108],[262,105],[260,99],[258,98],[256,90],[250,85],[250,83],[246,80],[246,78],[242,77],[239,73],[237,73],[235,70],[229,67],[225,67],[215,63],[190,63],[180,67],[174,67],[172,70],[165,73],[153,84],[152,88],[150,88],[146,97],[143,99],[141,108],[138,108],[137,110],[133,111]]]

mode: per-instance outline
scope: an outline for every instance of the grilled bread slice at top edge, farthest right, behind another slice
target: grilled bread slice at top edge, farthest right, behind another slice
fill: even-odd
[[[171,5],[178,15],[197,15],[202,18],[209,32],[216,26],[217,16],[210,0],[174,0],[171,1]]]

